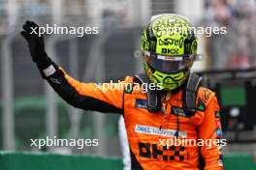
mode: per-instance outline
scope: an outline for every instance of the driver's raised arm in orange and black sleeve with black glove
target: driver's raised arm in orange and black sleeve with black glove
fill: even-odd
[[[97,85],[73,79],[48,57],[44,38],[32,31],[38,28],[35,22],[26,21],[21,35],[28,42],[33,62],[54,91],[69,104],[80,109],[122,113],[123,90],[104,87],[122,87],[120,84],[123,82]]]

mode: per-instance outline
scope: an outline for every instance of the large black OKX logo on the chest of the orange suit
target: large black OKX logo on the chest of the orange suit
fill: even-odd
[[[177,160],[183,161],[187,159],[187,151],[183,146],[159,146],[157,144],[139,143],[141,157],[157,158],[161,160]]]

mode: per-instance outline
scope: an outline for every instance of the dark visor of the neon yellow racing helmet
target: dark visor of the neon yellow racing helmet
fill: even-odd
[[[192,67],[193,62],[201,60],[202,55],[188,54],[179,56],[157,55],[144,51],[144,60],[153,69],[163,72],[183,71]]]

